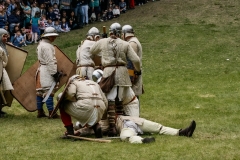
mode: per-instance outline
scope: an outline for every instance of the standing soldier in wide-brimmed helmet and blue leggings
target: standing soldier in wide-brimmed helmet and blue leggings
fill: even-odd
[[[36,72],[36,94],[37,94],[37,118],[47,117],[43,110],[43,98],[48,93],[52,83],[58,76],[57,72],[57,59],[55,57],[55,48],[51,44],[58,36],[56,30],[53,27],[47,27],[41,36],[41,41],[37,47],[37,57],[39,61],[39,67]],[[53,104],[54,91],[51,93],[46,101],[46,106],[51,115]],[[53,118],[59,118],[56,114]]]

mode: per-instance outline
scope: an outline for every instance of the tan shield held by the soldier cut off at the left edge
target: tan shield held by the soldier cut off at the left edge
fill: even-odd
[[[22,70],[28,55],[28,52],[15,47],[11,44],[6,44],[8,51],[8,63],[6,66],[6,71],[8,73],[9,79],[12,84],[21,76]],[[13,96],[10,91],[4,93],[4,97],[7,101],[7,105],[10,107],[13,101]]]

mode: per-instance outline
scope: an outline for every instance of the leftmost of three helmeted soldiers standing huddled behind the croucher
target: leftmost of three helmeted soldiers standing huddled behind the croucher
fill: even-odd
[[[92,27],[88,33],[87,38],[78,47],[77,56],[77,70],[76,74],[80,77],[92,80],[92,73],[94,71],[95,63],[93,61],[93,55],[89,52],[90,47],[93,46],[96,41],[100,39],[100,32],[96,27]]]

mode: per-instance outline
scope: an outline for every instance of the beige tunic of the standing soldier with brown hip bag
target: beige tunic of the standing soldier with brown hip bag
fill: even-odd
[[[110,76],[116,68],[107,66],[123,65],[116,68],[115,86],[132,86],[126,67],[127,57],[132,61],[137,71],[140,71],[140,59],[128,42],[120,38],[104,38],[96,42],[91,47],[90,52],[94,55],[102,53],[102,65],[106,67],[104,68],[103,77]],[[114,52],[117,53],[116,58],[114,57]]]

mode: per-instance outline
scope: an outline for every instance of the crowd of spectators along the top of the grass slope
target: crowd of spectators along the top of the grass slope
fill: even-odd
[[[3,0],[0,28],[9,31],[13,45],[23,47],[37,43],[46,27],[54,27],[58,33],[69,32],[119,17],[145,3],[146,0]]]

